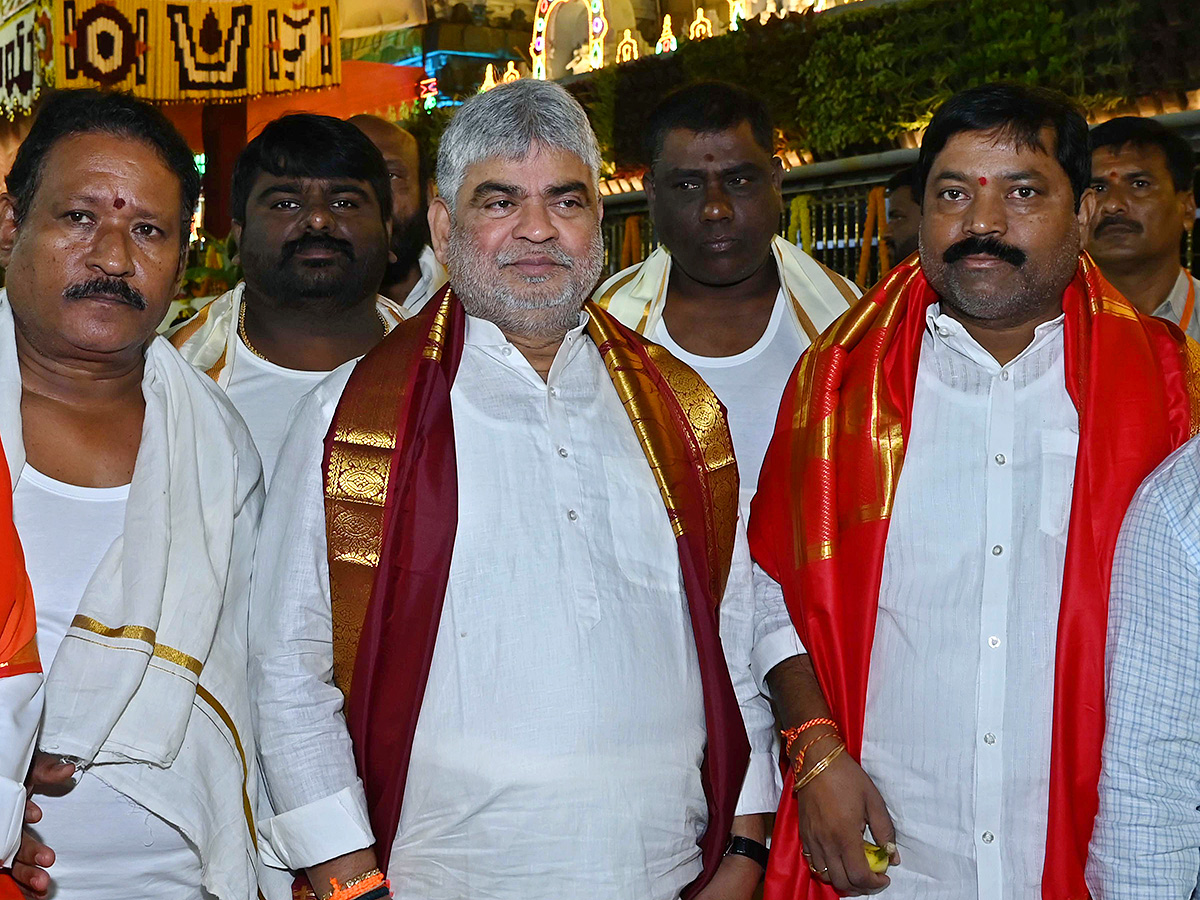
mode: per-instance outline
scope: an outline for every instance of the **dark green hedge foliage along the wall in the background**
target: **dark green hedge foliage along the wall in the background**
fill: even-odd
[[[1200,88],[1200,0],[864,0],[745,22],[565,84],[588,110],[607,172],[643,162],[654,104],[694,80],[767,102],[780,149],[836,158],[896,146],[955,91],[995,80],[1063,91],[1088,110]],[[431,158],[451,110],[402,122]]]

